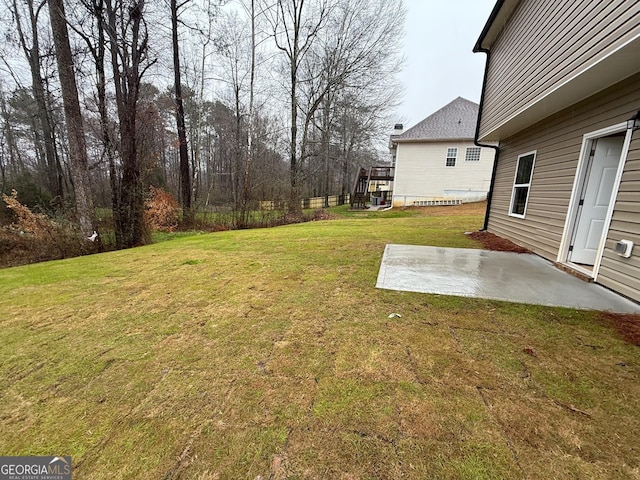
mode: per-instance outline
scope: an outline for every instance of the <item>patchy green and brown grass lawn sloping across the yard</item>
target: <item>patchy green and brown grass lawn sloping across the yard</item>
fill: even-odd
[[[0,270],[0,453],[76,479],[640,478],[640,349],[598,314],[375,289],[385,244],[477,247],[482,213]]]

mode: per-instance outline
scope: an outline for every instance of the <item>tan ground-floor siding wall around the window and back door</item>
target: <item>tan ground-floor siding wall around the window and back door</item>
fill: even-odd
[[[500,142],[489,231],[556,261],[583,135],[625,122],[640,108],[640,74]],[[508,215],[518,156],[537,151],[526,218]],[[640,243],[640,131],[635,132],[614,208],[598,283],[640,300],[640,245],[630,259],[612,249]],[[636,257],[636,255],[638,257]]]

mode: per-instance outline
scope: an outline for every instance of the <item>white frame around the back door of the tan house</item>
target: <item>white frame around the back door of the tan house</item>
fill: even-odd
[[[607,209],[607,216],[604,220],[604,227],[602,229],[602,236],[600,237],[600,244],[598,246],[598,252],[596,254],[596,261],[593,265],[593,270],[582,268],[579,265],[573,264],[568,260],[569,247],[574,237],[574,230],[578,219],[578,210],[580,203],[580,194],[584,188],[585,182],[587,182],[587,171],[589,166],[589,156],[591,153],[591,146],[593,142],[598,138],[608,137],[616,133],[626,132],[624,141],[622,143],[622,153],[620,154],[620,160],[618,161],[618,170],[611,191],[611,198],[609,199],[609,207]],[[611,125],[610,127],[601,128],[593,132],[586,133],[582,136],[582,147],[580,149],[580,157],[578,159],[578,166],[576,168],[576,175],[573,180],[573,187],[571,190],[571,198],[569,200],[569,208],[567,209],[567,217],[565,219],[564,230],[562,233],[562,240],[560,241],[560,248],[558,250],[557,262],[561,264],[570,265],[572,269],[578,270],[581,273],[593,278],[595,281],[598,277],[600,270],[600,264],[602,263],[602,255],[604,253],[604,247],[609,234],[609,228],[611,227],[611,219],[613,217],[613,209],[615,206],[616,198],[618,197],[618,189],[620,188],[620,181],[622,179],[622,173],[624,171],[624,164],[627,160],[629,153],[629,145],[631,144],[632,131],[627,129],[627,123],[618,123]]]

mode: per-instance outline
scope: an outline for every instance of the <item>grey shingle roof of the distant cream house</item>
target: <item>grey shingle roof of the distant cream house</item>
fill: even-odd
[[[445,105],[392,141],[473,139],[479,105],[462,97]]]

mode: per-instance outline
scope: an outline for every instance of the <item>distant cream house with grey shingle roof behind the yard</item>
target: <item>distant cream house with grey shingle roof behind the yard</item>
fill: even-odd
[[[393,205],[484,200],[495,152],[473,143],[478,104],[458,97],[433,115],[391,136]]]

